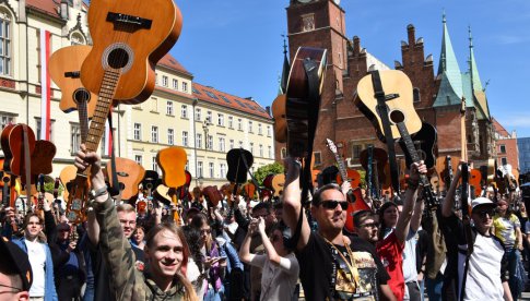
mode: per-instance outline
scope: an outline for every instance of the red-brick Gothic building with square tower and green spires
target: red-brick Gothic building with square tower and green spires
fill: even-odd
[[[349,167],[360,169],[361,150],[368,145],[386,146],[377,140],[372,123],[355,107],[355,89],[369,69],[386,70],[388,67],[362,48],[358,37],[349,39],[345,36],[345,12],[338,1],[292,0],[286,11],[291,60],[301,46],[328,49],[328,69],[314,145],[316,166],[326,167],[334,162],[333,155],[326,147],[326,139],[329,137],[342,142]],[[466,98],[468,156],[475,166],[485,165],[494,156],[494,134],[471,34],[469,65],[466,72],[461,72],[444,16],[437,73],[434,72],[433,56],[425,57],[424,39],[415,37],[413,25],[407,26],[407,41],[401,43],[402,60],[394,61],[393,68],[411,79],[414,108],[421,119],[437,128],[437,155],[460,157],[462,146],[458,137],[463,131],[460,111],[462,98]],[[275,147],[279,160],[285,155],[285,146],[276,143]],[[398,158],[401,157],[398,155]]]

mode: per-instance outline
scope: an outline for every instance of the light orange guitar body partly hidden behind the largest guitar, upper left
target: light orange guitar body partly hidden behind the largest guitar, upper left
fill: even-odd
[[[94,115],[97,95],[84,88],[80,79],[81,65],[91,49],[87,45],[68,46],[55,51],[49,58],[49,75],[61,89],[59,108],[63,112],[76,110],[79,104],[85,101],[89,118]]]

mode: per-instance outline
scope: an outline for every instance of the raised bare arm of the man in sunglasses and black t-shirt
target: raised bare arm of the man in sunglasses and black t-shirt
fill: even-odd
[[[301,165],[295,159],[287,157],[285,159],[285,167],[287,173],[285,176],[285,188],[283,190],[283,220],[293,231],[293,236],[298,225],[298,219],[302,218],[302,228],[299,240],[296,244],[296,250],[303,250],[309,241],[311,229],[307,222],[304,208],[302,207],[302,191],[299,189],[299,171]]]

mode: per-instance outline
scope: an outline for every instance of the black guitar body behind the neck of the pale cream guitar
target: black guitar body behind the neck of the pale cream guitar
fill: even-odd
[[[436,157],[434,156],[434,145],[436,144],[437,133],[436,129],[427,122],[422,122],[422,129],[411,135],[412,142],[416,146],[420,158],[425,162],[427,168],[432,168],[436,165]],[[402,140],[399,141],[399,145],[405,155],[407,166],[410,167],[412,158],[404,149],[407,146]]]

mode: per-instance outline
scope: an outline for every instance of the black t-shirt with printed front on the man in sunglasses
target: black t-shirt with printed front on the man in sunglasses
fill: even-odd
[[[355,237],[350,237],[350,240],[354,265],[360,275],[358,288],[348,281],[346,278],[351,278],[350,269],[337,250],[320,234],[310,233],[306,248],[296,253],[306,300],[378,300],[378,286],[386,285],[390,277],[372,244]],[[335,246],[351,261],[346,248]]]

